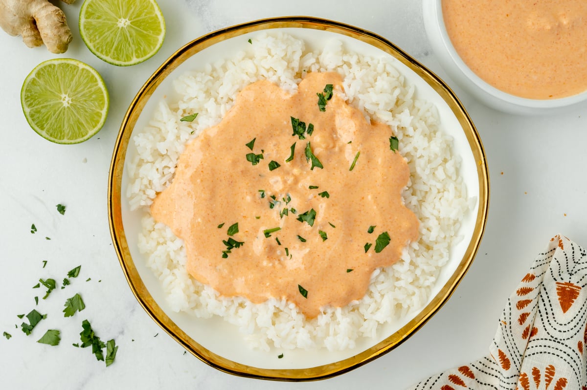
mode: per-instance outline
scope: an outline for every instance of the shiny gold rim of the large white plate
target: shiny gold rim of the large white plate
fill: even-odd
[[[399,331],[393,333],[381,342],[373,345],[359,354],[333,362],[330,364],[319,365],[311,368],[301,369],[267,369],[251,367],[249,365],[237,363],[227,358],[221,357],[204,348],[198,344],[193,338],[184,333],[171,319],[161,310],[156,301],[151,297],[147,291],[139,272],[134,266],[133,259],[130,255],[129,247],[124,235],[121,202],[123,199],[123,192],[121,191],[124,158],[126,157],[126,150],[129,144],[130,135],[133,131],[134,125],[143,110],[145,104],[149,100],[151,94],[157,86],[174,70],[181,65],[189,57],[195,53],[221,42],[222,40],[233,38],[235,36],[244,35],[246,33],[256,32],[259,30],[276,29],[276,28],[306,28],[326,30],[329,32],[338,33],[349,36],[369,43],[375,48],[383,50],[393,56],[404,65],[413,70],[422,79],[424,79],[431,87],[442,97],[453,111],[455,116],[463,128],[467,137],[467,141],[473,151],[475,161],[477,161],[477,175],[479,179],[479,207],[477,211],[477,219],[475,221],[475,228],[471,241],[465,251],[463,259],[458,264],[457,269],[450,277],[443,289],[434,297],[420,313],[414,317],[409,323],[404,325]],[[126,199],[126,198],[125,198]],[[345,25],[339,22],[328,21],[326,19],[312,18],[308,16],[286,16],[282,18],[261,19],[258,21],[243,23],[241,25],[231,26],[215,32],[211,32],[201,38],[195,39],[183,48],[177,50],[166,62],[161,65],[155,73],[147,80],[141,87],[139,93],[130,104],[129,110],[124,116],[122,126],[116,144],[114,144],[114,152],[112,162],[110,164],[109,182],[108,182],[108,219],[110,225],[110,235],[117,256],[122,266],[124,276],[129,283],[130,289],[134,296],[139,301],[144,310],[149,316],[166,331],[171,337],[179,342],[183,347],[190,351],[195,357],[210,365],[211,367],[220,369],[229,374],[241,375],[249,378],[259,379],[273,379],[278,381],[312,381],[316,379],[325,379],[335,375],[343,374],[352,369],[360,367],[369,361],[380,357],[387,352],[393,350],[403,341],[406,341],[412,334],[414,334],[420,327],[422,327],[436,312],[443,306],[448,298],[453,294],[453,291],[461,282],[463,276],[467,272],[475,253],[477,253],[478,246],[481,242],[481,237],[485,229],[485,221],[487,219],[487,209],[489,203],[489,175],[487,171],[487,163],[485,161],[485,151],[483,144],[475,129],[471,118],[468,116],[463,105],[455,96],[453,91],[442,81],[436,74],[430,72],[423,65],[415,59],[407,55],[401,49],[397,48],[389,40],[384,39],[375,33],[368,32],[353,26]]]

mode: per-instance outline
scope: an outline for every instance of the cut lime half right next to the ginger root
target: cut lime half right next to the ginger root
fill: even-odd
[[[79,33],[90,52],[118,66],[152,57],[165,38],[165,20],[155,0],[86,0]]]

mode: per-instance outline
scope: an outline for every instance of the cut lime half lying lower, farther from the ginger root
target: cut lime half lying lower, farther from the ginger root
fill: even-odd
[[[77,144],[106,121],[108,92],[100,74],[83,62],[59,58],[40,63],[21,89],[22,111],[41,137]]]

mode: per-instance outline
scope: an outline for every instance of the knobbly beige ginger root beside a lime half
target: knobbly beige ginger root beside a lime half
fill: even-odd
[[[65,53],[73,38],[65,14],[49,0],[0,0],[0,27],[12,36],[21,35],[29,48],[45,43],[52,53]]]

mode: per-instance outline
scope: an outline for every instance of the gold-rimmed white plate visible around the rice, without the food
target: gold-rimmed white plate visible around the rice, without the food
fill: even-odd
[[[476,199],[459,230],[463,240],[451,247],[424,307],[410,311],[401,320],[386,325],[372,340],[357,342],[345,351],[288,351],[277,359],[278,351],[250,350],[237,327],[220,318],[195,318],[171,310],[161,283],[147,267],[138,249],[140,219],[144,211],[131,211],[126,188],[129,177],[125,160],[134,145],[129,140],[146,126],[161,99],[173,91],[173,80],[190,69],[232,56],[242,43],[262,30],[280,30],[321,47],[337,39],[353,52],[373,57],[389,57],[406,81],[416,87],[421,99],[433,103],[441,120],[441,131],[453,138],[454,152],[461,158],[460,174],[468,196]],[[138,129],[138,130],[137,130]],[[136,149],[136,148],[135,148]],[[487,218],[489,179],[483,146],[470,118],[457,97],[440,79],[391,42],[363,29],[342,23],[303,16],[272,18],[233,26],[193,40],[180,48],[147,80],[124,117],[114,146],[109,177],[109,221],[114,247],[129,286],[139,303],[163,330],[189,352],[212,367],[231,374],[254,378],[311,380],[332,377],[373,360],[407,340],[448,300],[473,261]]]

